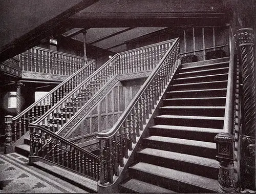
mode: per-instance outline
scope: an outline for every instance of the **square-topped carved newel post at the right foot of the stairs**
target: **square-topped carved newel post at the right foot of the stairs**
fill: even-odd
[[[236,138],[228,133],[220,133],[215,136],[217,144],[217,160],[220,162],[219,168],[219,192],[236,192],[237,180],[234,174],[234,140]]]

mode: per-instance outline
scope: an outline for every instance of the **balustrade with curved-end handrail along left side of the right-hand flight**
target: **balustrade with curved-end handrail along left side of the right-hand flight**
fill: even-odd
[[[119,176],[119,166],[124,166],[124,158],[129,157],[128,150],[133,149],[133,143],[140,137],[143,125],[150,118],[157,100],[180,64],[179,38],[172,41],[173,45],[168,48],[116,124],[110,131],[98,133],[102,185],[113,183],[114,175]]]

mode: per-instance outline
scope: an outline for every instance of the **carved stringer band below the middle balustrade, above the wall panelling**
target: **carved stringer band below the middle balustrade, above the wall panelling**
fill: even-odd
[[[151,74],[152,70],[136,73],[128,73],[114,76],[107,84],[101,88],[97,94],[95,94],[83,107],[57,132],[57,134],[65,139],[68,139],[70,135],[76,130],[79,124],[86,119],[88,114],[94,109],[94,107],[101,101],[101,99],[108,94],[109,90],[115,87],[118,81],[145,78]],[[95,137],[96,139],[96,137]]]

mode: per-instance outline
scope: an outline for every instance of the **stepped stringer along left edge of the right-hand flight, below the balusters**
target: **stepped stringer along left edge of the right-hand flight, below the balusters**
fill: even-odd
[[[177,67],[176,71],[179,69],[179,67]],[[159,114],[159,107],[163,105],[163,99],[165,98],[166,90],[168,88],[168,85],[172,82],[173,78],[175,77],[176,71],[172,78],[170,78],[168,83],[165,85],[165,88],[161,93],[160,99],[157,100],[155,109],[153,109],[152,114],[149,115],[149,119],[146,119],[146,124],[143,125],[143,130],[141,131],[140,137],[136,137],[136,143],[133,143],[132,145],[133,149],[128,150],[128,158],[123,159],[124,166],[119,166],[119,176],[114,176],[113,183],[108,185],[101,185],[100,181],[98,181],[98,193],[120,193],[119,184],[121,184],[125,179],[129,178],[128,167],[135,162],[135,155],[136,152],[138,152],[138,150],[142,146],[142,140],[149,135],[148,128],[155,124],[154,117]]]

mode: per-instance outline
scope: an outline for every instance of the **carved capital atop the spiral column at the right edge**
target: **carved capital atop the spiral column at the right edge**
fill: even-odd
[[[254,32],[252,28],[241,28],[234,35],[238,46],[254,45]]]

